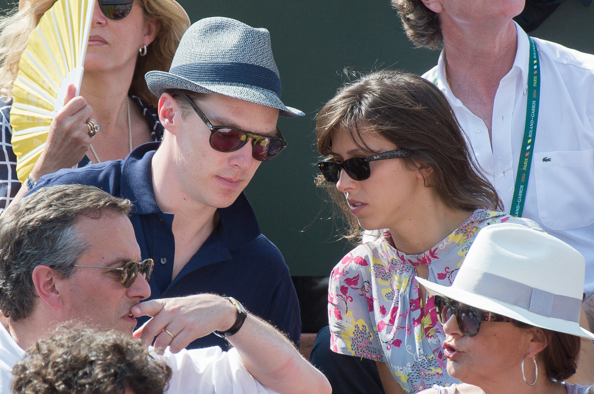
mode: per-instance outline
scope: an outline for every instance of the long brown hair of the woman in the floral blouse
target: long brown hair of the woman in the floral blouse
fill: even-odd
[[[377,133],[412,156],[402,158],[409,169],[418,164],[431,167],[425,185],[450,207],[473,211],[503,209],[497,191],[482,174],[445,96],[420,76],[398,71],[377,71],[345,84],[317,115],[318,152],[324,157],[332,149],[332,133],[344,131],[363,150],[361,134]],[[326,187],[340,206],[349,225],[345,238],[356,240],[361,229],[336,185],[319,175],[317,184]]]

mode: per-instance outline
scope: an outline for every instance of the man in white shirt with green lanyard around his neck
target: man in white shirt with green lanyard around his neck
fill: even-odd
[[[512,20],[524,3],[392,0],[416,45],[443,46],[424,78],[450,101],[505,210],[535,220],[586,258],[584,309],[592,328],[594,56],[532,39],[535,56]],[[528,96],[535,105],[527,107]],[[526,122],[532,134],[523,142]]]

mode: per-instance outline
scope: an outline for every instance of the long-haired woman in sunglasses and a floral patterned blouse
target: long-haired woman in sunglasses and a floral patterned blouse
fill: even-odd
[[[346,238],[381,235],[367,235],[330,275],[330,344],[318,348],[354,357],[330,361],[336,355],[314,349],[312,362],[341,393],[354,392],[347,386],[361,369],[379,372],[386,393],[459,382],[445,371],[434,299],[415,277],[449,286],[480,229],[538,225],[501,212],[446,98],[419,76],[380,71],[346,84],[318,113],[316,131],[318,184],[342,208]]]

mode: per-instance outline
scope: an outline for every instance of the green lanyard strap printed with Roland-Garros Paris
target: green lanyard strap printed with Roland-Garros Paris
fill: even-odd
[[[528,37],[528,40],[530,40],[530,55],[528,60],[526,126],[524,129],[522,150],[520,150],[514,197],[511,200],[512,206],[510,214],[513,216],[522,216],[522,212],[524,211],[524,201],[526,197],[526,189],[528,188],[528,177],[530,176],[530,165],[532,164],[532,152],[534,150],[534,140],[536,137],[538,102],[541,98],[541,66],[538,61],[538,51],[530,36]]]

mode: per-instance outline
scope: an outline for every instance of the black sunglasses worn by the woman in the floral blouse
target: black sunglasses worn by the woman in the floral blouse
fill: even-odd
[[[345,169],[346,174],[355,181],[364,181],[371,176],[369,162],[386,159],[398,159],[411,156],[407,149],[396,149],[388,152],[376,153],[364,158],[350,158],[345,161],[336,162],[324,160],[318,163],[318,167],[328,183],[335,184],[340,179],[340,169]]]

